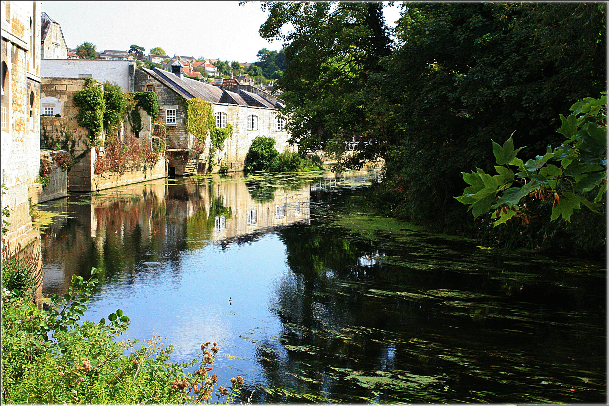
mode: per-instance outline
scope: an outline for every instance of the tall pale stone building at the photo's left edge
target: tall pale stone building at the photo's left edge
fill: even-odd
[[[4,240],[26,245],[37,233],[29,215],[40,183],[40,1],[1,1],[1,183],[2,208],[10,222]]]

